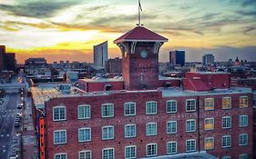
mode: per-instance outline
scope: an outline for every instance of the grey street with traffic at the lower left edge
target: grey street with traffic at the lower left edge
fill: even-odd
[[[8,158],[10,145],[13,142],[15,114],[18,94],[5,94],[5,103],[0,104],[0,158]]]

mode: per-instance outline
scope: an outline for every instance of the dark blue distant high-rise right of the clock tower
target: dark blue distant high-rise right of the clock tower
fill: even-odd
[[[172,65],[185,65],[185,51],[170,51],[169,52],[169,63]]]

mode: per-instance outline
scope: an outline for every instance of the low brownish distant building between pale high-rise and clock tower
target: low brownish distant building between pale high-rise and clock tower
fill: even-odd
[[[105,63],[106,73],[121,74],[122,73],[122,59],[119,57],[114,59],[108,59]]]

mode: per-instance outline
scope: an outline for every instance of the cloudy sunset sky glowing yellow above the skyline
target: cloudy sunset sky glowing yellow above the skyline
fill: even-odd
[[[213,54],[217,61],[256,61],[256,0],[141,0],[142,24],[169,38],[187,61]],[[120,55],[113,40],[138,23],[138,0],[0,0],[0,45],[47,62],[92,62],[93,45],[108,40],[109,57]]]

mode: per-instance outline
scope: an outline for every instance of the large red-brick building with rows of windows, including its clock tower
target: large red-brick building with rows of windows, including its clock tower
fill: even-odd
[[[230,87],[223,73],[188,73],[184,87],[159,77],[167,41],[137,26],[115,41],[123,78],[80,80],[81,89],[64,92],[33,88],[44,112],[41,158],[251,158],[251,89]]]

